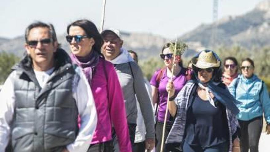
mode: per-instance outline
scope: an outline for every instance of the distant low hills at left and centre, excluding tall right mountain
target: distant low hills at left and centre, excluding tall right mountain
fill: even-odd
[[[121,33],[124,39],[124,47],[132,49],[139,53],[141,59],[148,58],[153,54],[160,53],[162,45],[168,41],[167,39],[149,34],[149,33]],[[68,43],[65,39],[65,34],[58,36],[58,41],[62,48],[70,52]],[[24,53],[24,37],[16,37],[14,39],[0,38],[0,51],[12,52],[21,57]]]

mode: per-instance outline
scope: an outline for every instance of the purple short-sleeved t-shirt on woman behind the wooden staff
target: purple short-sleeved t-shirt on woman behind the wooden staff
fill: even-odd
[[[165,113],[166,113],[166,106],[167,106],[167,99],[168,99],[168,92],[166,91],[166,85],[168,84],[168,80],[170,77],[167,76],[167,68],[164,70],[161,78],[160,83],[157,82],[156,77],[160,70],[157,70],[154,75],[151,78],[150,84],[158,88],[159,92],[159,108],[158,108],[158,116],[157,120],[160,122],[164,122],[165,119]],[[177,95],[178,92],[183,88],[183,86],[186,84],[187,80],[185,77],[186,68],[181,68],[181,71],[179,74],[173,78],[173,84],[175,86],[175,94]],[[169,122],[170,114],[168,111],[167,115],[167,122]]]

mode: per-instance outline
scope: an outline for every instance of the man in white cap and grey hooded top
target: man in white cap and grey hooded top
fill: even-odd
[[[101,33],[104,40],[102,53],[106,60],[114,64],[118,78],[122,87],[125,99],[127,121],[129,125],[129,135],[134,144],[138,99],[143,119],[146,127],[145,149],[151,151],[155,145],[154,118],[151,101],[146,91],[144,78],[140,67],[133,61],[129,53],[122,48],[123,40],[117,29],[107,29]],[[136,96],[135,96],[136,95]],[[119,151],[117,138],[113,134],[114,151]]]

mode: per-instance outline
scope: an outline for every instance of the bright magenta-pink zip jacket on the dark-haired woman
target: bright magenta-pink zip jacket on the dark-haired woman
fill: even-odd
[[[112,63],[100,58],[91,80],[91,89],[98,114],[91,144],[111,140],[113,123],[121,152],[131,152],[122,88]]]

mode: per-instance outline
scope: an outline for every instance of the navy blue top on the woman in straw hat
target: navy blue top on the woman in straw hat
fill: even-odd
[[[194,87],[189,98],[185,142],[202,148],[229,142],[225,106],[215,98],[216,107],[208,100],[201,99],[196,92],[197,87]]]

